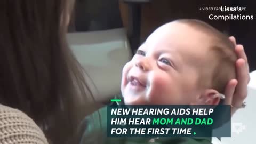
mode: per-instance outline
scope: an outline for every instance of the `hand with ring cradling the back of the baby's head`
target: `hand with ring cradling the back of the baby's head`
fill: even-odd
[[[231,79],[227,84],[224,103],[231,105],[231,115],[233,115],[237,109],[243,107],[244,99],[247,97],[247,85],[250,81],[250,75],[243,45],[237,45],[236,39],[233,36],[229,37],[229,39],[236,45],[235,51],[238,57],[236,61],[237,79]]]

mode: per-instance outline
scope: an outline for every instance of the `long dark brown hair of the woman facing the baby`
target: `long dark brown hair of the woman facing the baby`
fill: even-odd
[[[65,15],[72,5],[69,0],[0,1],[0,103],[24,111],[54,144],[73,137],[72,109],[79,105],[73,98],[83,103],[92,96],[66,42]]]

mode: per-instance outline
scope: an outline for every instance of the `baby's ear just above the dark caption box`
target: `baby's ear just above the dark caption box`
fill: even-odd
[[[206,89],[198,97],[197,105],[218,105],[220,99],[225,99],[225,96],[214,89]]]

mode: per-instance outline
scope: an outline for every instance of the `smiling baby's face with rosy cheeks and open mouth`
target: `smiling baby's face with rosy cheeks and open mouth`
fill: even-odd
[[[199,67],[209,39],[181,23],[158,28],[123,68],[126,105],[190,105],[202,90]]]

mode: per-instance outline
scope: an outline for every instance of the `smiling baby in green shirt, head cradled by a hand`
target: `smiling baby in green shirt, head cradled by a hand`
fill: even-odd
[[[218,105],[224,98],[222,93],[225,86],[236,77],[234,47],[227,36],[202,21],[182,19],[159,27],[123,68],[121,92],[124,103]],[[106,128],[106,108],[100,110],[100,117],[98,125],[102,125],[102,128],[95,127],[97,122],[94,122],[94,129],[86,130],[82,143],[99,143],[95,139],[88,141],[90,134],[97,132],[103,132],[97,137],[101,137],[104,143],[150,143],[147,138],[143,142],[135,138],[104,140],[106,133],[102,129]],[[211,143],[207,138],[162,140],[179,143],[177,139],[184,144]],[[161,139],[157,142],[163,143]]]

